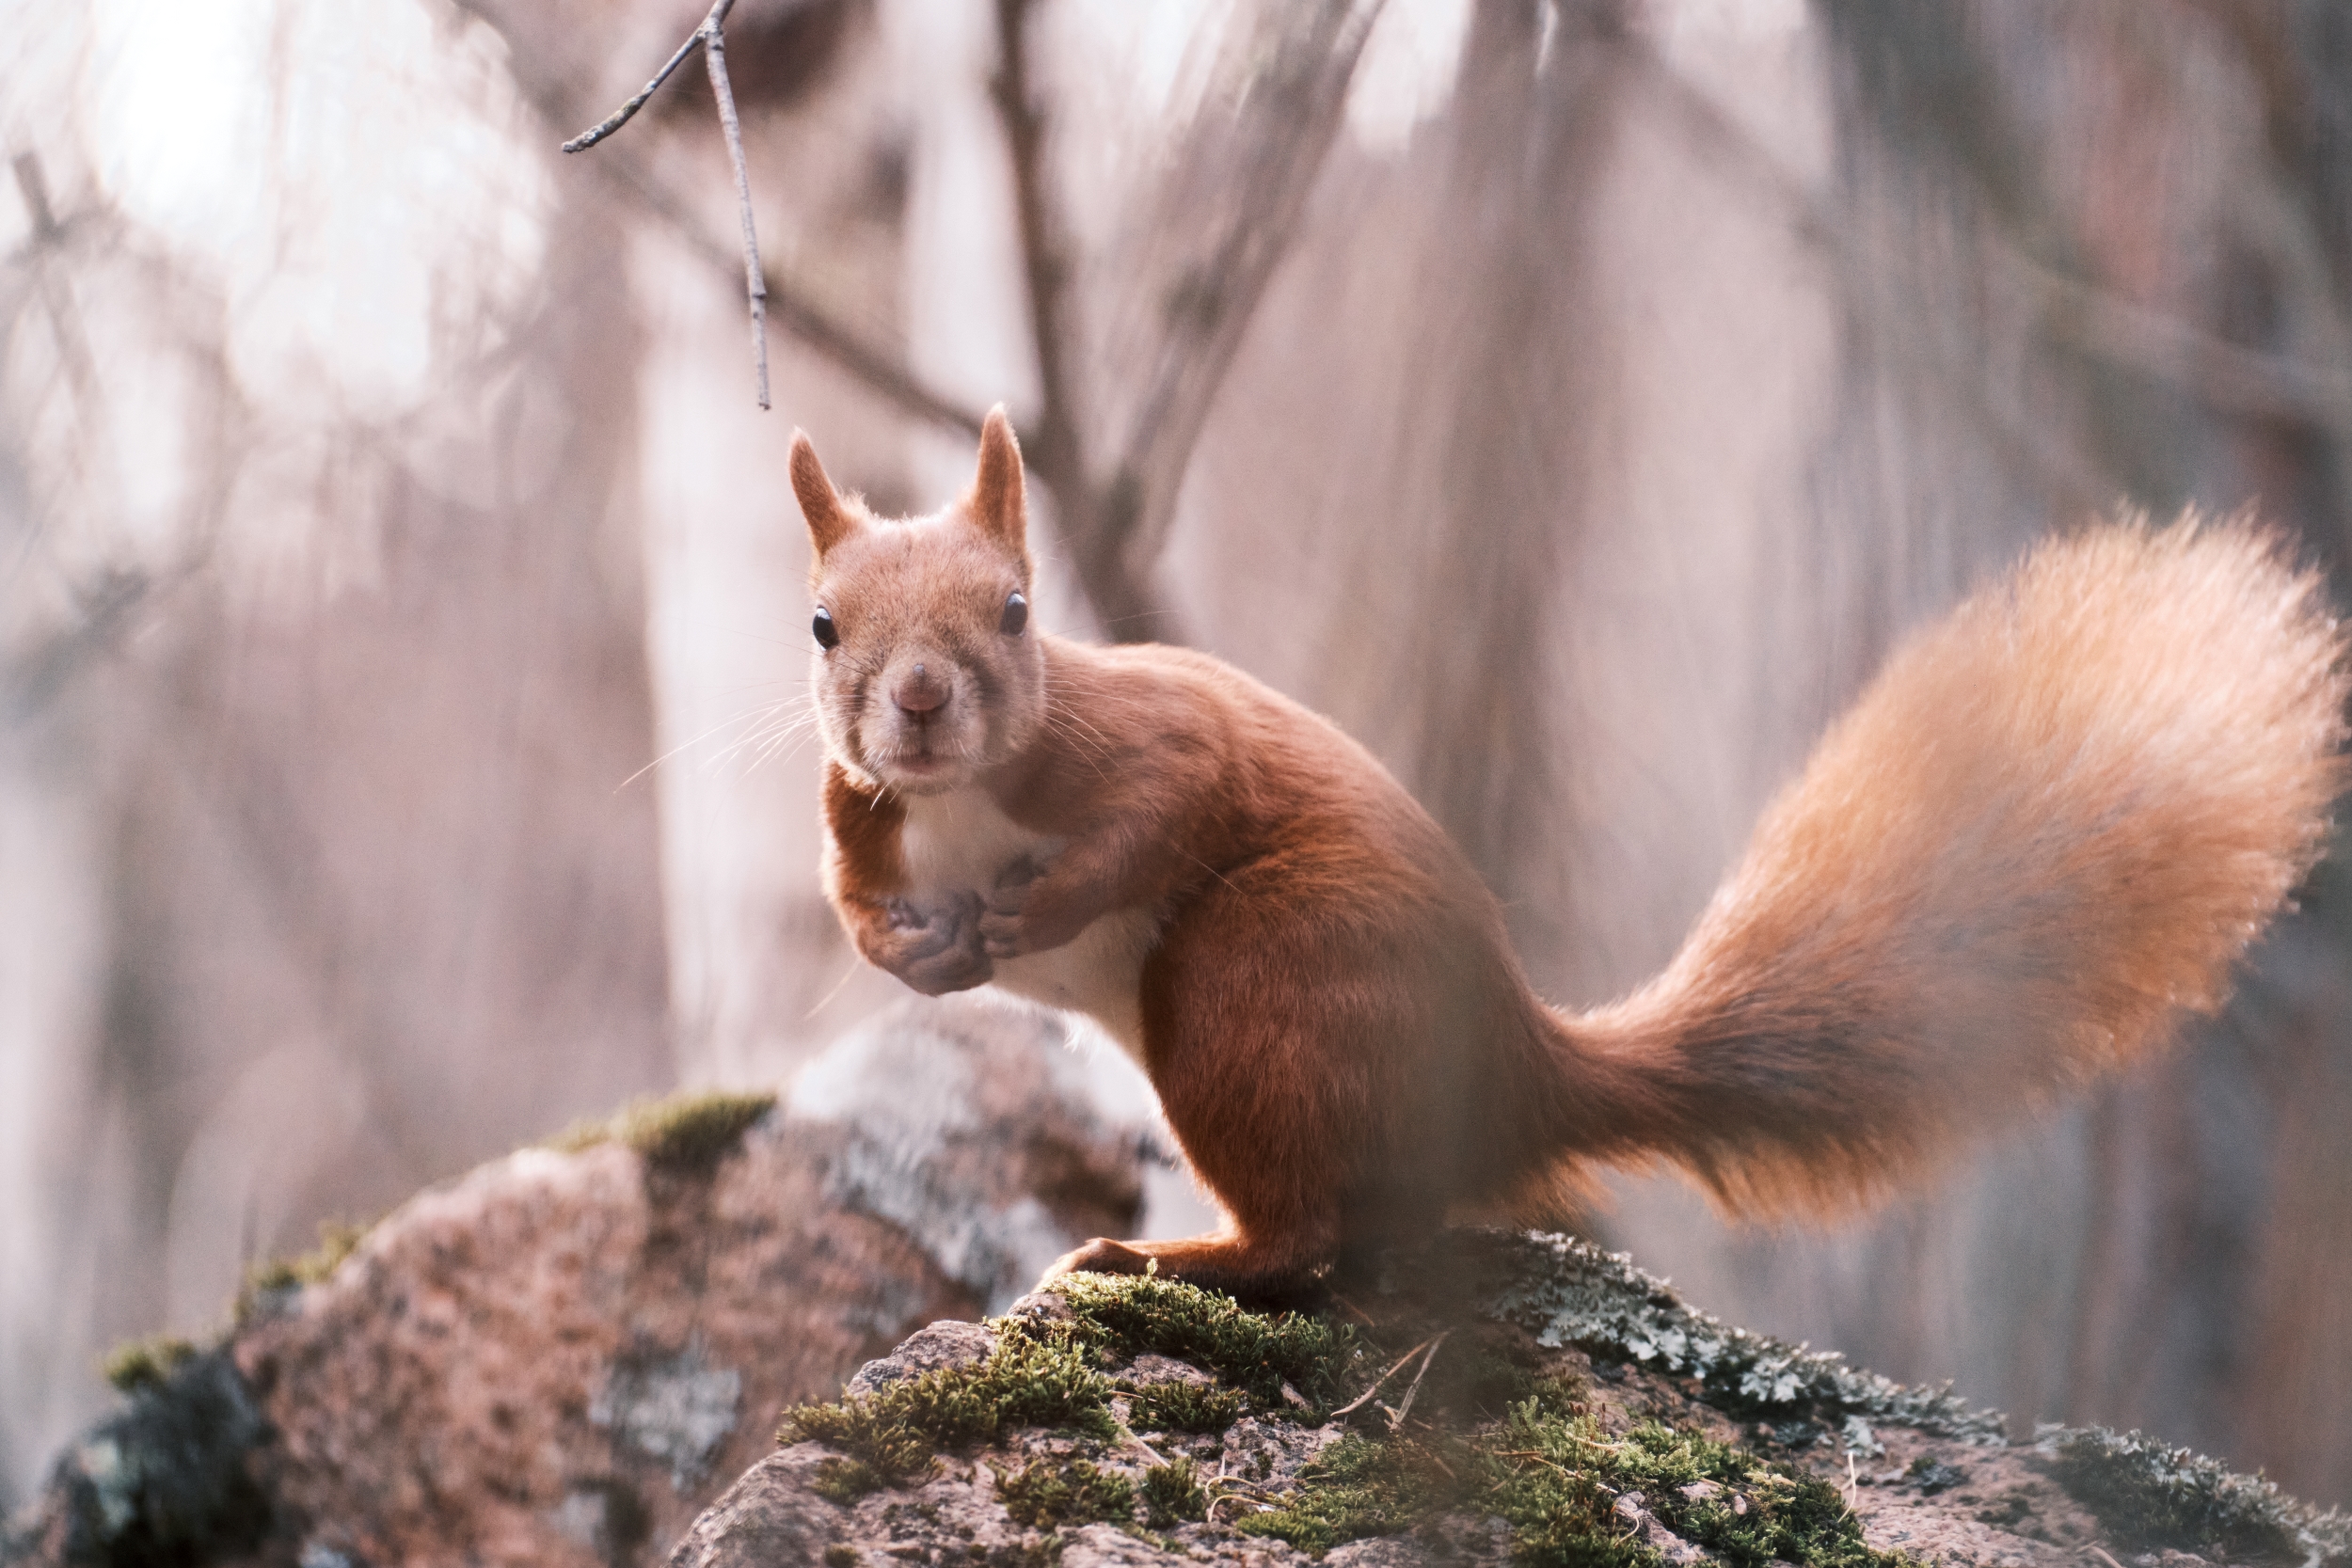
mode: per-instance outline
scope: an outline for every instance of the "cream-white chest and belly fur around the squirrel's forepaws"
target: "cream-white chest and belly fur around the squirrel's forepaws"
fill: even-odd
[[[906,802],[898,856],[908,893],[938,898],[976,891],[983,898],[997,877],[1023,856],[1049,865],[1063,839],[1021,827],[985,790],[917,795]],[[1150,910],[1101,914],[1061,947],[997,959],[995,985],[1030,1001],[1087,1013],[1143,1060],[1143,959],[1160,940]]]

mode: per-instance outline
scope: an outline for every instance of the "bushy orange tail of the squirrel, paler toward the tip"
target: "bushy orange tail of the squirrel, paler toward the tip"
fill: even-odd
[[[2345,637],[2244,520],[2044,543],[1907,642],[1675,961],[1562,1018],[1731,1208],[1867,1199],[2213,1011],[2319,858]]]

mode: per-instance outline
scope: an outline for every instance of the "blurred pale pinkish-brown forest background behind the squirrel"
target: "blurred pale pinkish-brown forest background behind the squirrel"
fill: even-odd
[[[1903,630],[2117,503],[2352,571],[2340,0],[0,0],[0,1505],[122,1335],[887,1001],[818,896],[807,425],[1011,402],[1049,625],[1364,738],[1564,1001]],[[654,759],[663,759],[659,766]],[[2352,1502],[2352,884],[1755,1328]]]

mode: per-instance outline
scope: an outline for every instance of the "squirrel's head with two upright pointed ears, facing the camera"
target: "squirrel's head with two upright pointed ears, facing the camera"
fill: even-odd
[[[971,489],[927,517],[875,517],[793,433],[793,494],[816,557],[816,724],[868,788],[941,795],[1018,757],[1044,722],[1030,625],[1028,503],[1004,404]]]

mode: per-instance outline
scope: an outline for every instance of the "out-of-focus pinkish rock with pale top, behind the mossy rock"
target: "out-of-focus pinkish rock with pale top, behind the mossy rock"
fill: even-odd
[[[1136,1131],[1030,1013],[898,1009],[736,1121],[640,1107],[419,1194],[134,1392],[0,1561],[659,1561],[783,1406],[1141,1197]]]

